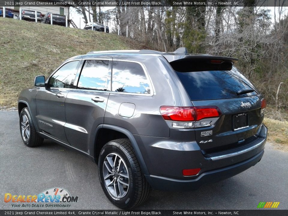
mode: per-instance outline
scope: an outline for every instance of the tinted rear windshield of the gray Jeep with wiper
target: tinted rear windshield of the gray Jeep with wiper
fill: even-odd
[[[237,70],[176,71],[191,101],[239,98],[257,95],[253,84]],[[237,95],[239,90],[252,88],[254,92]]]

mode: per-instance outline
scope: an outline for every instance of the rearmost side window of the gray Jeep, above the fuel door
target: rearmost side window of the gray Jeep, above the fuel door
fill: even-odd
[[[113,61],[112,91],[150,94],[151,87],[140,64]]]

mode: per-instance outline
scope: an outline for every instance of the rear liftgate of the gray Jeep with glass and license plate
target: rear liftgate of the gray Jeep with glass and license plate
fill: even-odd
[[[181,68],[186,63],[182,62]],[[222,113],[219,118],[194,123],[196,141],[206,153],[230,149],[253,139],[263,121],[262,96],[231,62],[231,67],[227,62],[226,66],[220,66],[222,63],[191,60],[185,69],[179,69],[181,72],[176,71],[195,107],[216,106]],[[177,66],[173,66],[176,70]]]

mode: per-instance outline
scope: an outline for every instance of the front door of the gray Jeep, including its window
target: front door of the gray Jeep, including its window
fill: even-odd
[[[80,61],[70,61],[62,65],[49,78],[47,86],[38,90],[36,95],[37,121],[42,132],[68,143],[64,125],[65,99],[73,88],[73,82]]]

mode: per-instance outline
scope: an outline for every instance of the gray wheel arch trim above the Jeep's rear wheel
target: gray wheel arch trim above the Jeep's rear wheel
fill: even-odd
[[[136,158],[137,158],[137,160],[138,160],[138,162],[140,164],[140,168],[141,168],[142,172],[145,175],[149,175],[148,168],[147,168],[147,166],[145,164],[144,158],[143,158],[143,156],[141,154],[141,151],[139,149],[139,146],[138,146],[133,134],[130,131],[128,131],[127,129],[121,128],[121,127],[115,126],[115,125],[101,124],[101,125],[98,125],[98,127],[96,128],[95,136],[94,136],[95,142],[94,142],[94,145],[93,145],[93,149],[91,149],[92,150],[91,152],[93,152],[93,158],[95,158],[95,162],[98,162],[98,157],[99,157],[99,153],[97,153],[97,150],[99,149],[99,147],[98,147],[99,143],[97,142],[97,140],[101,136],[101,131],[103,129],[109,129],[109,130],[116,131],[118,133],[121,133],[121,134],[125,135],[126,137],[122,137],[122,138],[128,138],[130,140],[131,145],[132,145],[132,147],[133,147],[133,149],[135,151]]]

